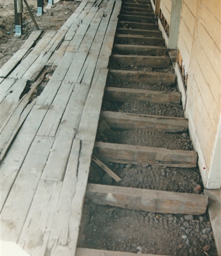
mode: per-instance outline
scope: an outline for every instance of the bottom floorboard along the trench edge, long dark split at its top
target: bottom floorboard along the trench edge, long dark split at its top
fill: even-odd
[[[51,255],[75,255],[93,146],[94,142],[74,140],[50,232]]]

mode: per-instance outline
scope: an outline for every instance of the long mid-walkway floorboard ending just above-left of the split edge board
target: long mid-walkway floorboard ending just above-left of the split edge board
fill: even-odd
[[[88,86],[75,84],[61,122],[59,123],[56,139],[44,168],[42,179],[57,181],[63,179],[71,145],[78,131],[87,92]]]

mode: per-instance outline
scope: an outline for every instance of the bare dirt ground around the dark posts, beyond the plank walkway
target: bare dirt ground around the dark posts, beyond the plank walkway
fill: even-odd
[[[61,1],[48,6],[44,1],[44,14],[37,16],[37,0],[27,0],[40,29],[58,30],[74,13],[79,2]],[[22,46],[33,30],[36,30],[31,16],[23,3],[23,34],[15,36],[14,0],[0,2],[0,67]]]

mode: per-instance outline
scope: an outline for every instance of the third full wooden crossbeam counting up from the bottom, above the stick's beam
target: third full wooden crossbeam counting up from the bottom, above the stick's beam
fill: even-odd
[[[111,128],[117,129],[154,129],[172,133],[188,129],[188,120],[179,117],[103,111],[100,119],[107,122]]]

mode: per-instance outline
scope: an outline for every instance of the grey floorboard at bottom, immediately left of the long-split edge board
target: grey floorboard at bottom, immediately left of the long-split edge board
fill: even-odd
[[[62,184],[61,181],[39,181],[18,240],[18,245],[29,255],[44,256],[46,253]]]

